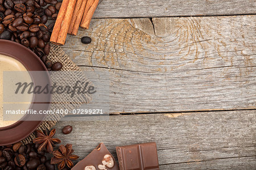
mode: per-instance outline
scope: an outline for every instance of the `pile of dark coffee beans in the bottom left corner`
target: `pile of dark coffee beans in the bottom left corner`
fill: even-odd
[[[55,170],[51,160],[47,160],[46,152],[38,152],[34,143],[22,145],[0,146],[0,169],[3,170]],[[67,168],[65,168],[67,169]]]

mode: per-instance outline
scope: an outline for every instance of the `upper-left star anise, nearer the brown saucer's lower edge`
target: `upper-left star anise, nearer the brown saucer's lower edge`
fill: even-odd
[[[53,152],[53,146],[55,143],[60,143],[60,139],[58,138],[53,138],[53,135],[55,135],[56,129],[52,129],[49,134],[43,133],[41,130],[36,130],[36,137],[33,142],[40,144],[38,147],[38,151],[42,151],[44,148],[49,153]]]

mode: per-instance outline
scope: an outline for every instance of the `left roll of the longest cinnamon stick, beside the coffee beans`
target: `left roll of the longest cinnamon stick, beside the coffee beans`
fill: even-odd
[[[61,3],[59,14],[57,16],[55,25],[54,25],[53,30],[52,30],[52,35],[51,35],[50,41],[55,43],[55,44],[57,42],[57,38],[58,38],[59,32],[60,32],[60,27],[63,23],[65,13],[66,13],[67,8],[68,8],[68,3],[69,3],[69,0],[63,0],[63,2]]]

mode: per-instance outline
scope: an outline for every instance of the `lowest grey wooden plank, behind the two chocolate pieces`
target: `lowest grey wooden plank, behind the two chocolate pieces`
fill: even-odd
[[[156,142],[160,169],[255,169],[256,111],[110,116],[109,121],[59,122],[56,137],[80,160],[100,142],[115,147]],[[71,134],[61,128],[72,125]]]

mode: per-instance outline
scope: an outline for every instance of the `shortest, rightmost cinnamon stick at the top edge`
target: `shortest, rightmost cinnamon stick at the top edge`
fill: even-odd
[[[84,15],[82,16],[82,21],[80,26],[82,28],[88,29],[90,25],[90,20],[92,20],[92,16],[94,11],[97,8],[99,0],[88,0],[85,6]]]

